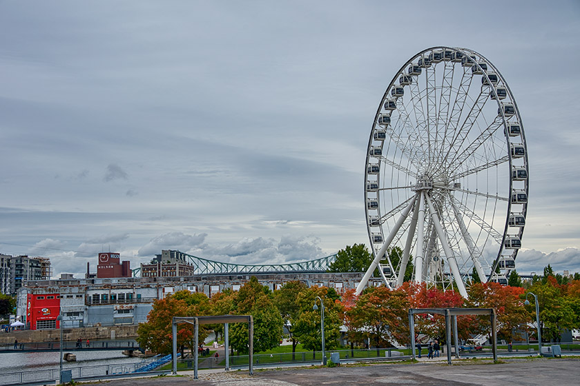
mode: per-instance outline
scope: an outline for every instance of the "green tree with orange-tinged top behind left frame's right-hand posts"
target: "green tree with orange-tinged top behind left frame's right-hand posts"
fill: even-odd
[[[238,315],[252,315],[254,323],[253,347],[255,352],[265,351],[280,345],[282,339],[282,317],[273,303],[273,294],[252,276],[240,291],[234,293],[233,312]],[[240,354],[249,352],[248,326],[233,323],[230,343]]]

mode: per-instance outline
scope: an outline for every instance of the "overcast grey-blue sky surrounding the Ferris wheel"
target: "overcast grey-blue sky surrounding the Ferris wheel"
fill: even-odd
[[[0,253],[81,274],[162,249],[282,263],[367,243],[401,65],[466,47],[523,117],[521,273],[580,271],[578,1],[0,1]]]

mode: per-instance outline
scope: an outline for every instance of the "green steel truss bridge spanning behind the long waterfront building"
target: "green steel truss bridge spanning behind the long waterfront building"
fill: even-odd
[[[336,254],[316,258],[309,261],[288,264],[234,264],[222,261],[213,261],[207,258],[193,256],[184,252],[177,253],[186,263],[193,265],[196,275],[204,274],[250,274],[255,272],[327,272],[331,263],[336,260]],[[133,270],[133,276],[140,274],[141,268]]]

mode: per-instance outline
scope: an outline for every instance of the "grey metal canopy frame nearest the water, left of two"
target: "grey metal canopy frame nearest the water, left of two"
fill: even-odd
[[[251,315],[219,315],[219,316],[173,316],[171,323],[171,334],[173,335],[173,358],[172,358],[172,372],[177,374],[177,325],[180,323],[189,323],[195,328],[195,350],[193,352],[194,367],[193,378],[197,379],[197,360],[199,359],[199,352],[197,347],[199,345],[199,326],[200,325],[224,325],[224,348],[226,351],[226,370],[229,370],[229,323],[248,323],[249,336],[249,373],[253,375],[253,317]]]

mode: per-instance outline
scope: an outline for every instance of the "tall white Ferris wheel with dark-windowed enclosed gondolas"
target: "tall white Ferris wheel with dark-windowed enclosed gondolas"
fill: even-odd
[[[365,213],[388,287],[507,284],[528,211],[528,151],[499,70],[467,48],[419,52],[395,74],[374,118]],[[411,269],[412,267],[412,269]]]

